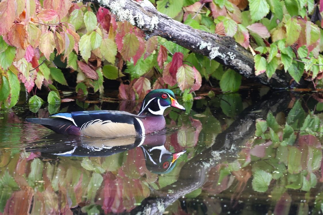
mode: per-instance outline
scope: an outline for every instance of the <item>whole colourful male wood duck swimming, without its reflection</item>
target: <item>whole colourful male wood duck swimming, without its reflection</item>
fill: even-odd
[[[160,131],[166,126],[163,113],[168,107],[185,111],[171,90],[149,92],[138,115],[125,111],[78,111],[56,113],[53,118],[28,118],[27,122],[41,124],[54,132],[89,137],[141,136]]]

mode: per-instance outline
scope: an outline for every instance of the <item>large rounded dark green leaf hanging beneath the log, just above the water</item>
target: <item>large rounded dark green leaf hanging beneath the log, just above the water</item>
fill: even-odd
[[[237,92],[241,85],[241,79],[242,76],[239,73],[228,69],[221,77],[220,88],[224,92]]]

